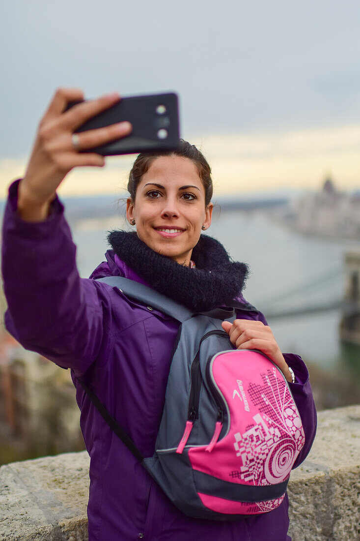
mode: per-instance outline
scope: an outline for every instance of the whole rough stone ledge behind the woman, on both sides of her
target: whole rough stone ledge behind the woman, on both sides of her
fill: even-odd
[[[0,468],[0,538],[85,541],[89,490],[86,451]],[[318,414],[308,459],[291,473],[293,541],[360,539],[360,405]]]

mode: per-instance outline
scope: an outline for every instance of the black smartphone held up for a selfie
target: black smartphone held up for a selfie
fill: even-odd
[[[70,102],[66,110],[81,102]],[[100,147],[81,150],[102,156],[176,150],[179,146],[178,96],[175,93],[125,96],[109,109],[90,118],[75,133],[128,120],[132,132]]]

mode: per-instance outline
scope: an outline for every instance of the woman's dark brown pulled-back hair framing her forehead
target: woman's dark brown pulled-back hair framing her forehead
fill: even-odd
[[[160,156],[181,156],[193,161],[205,189],[205,206],[207,207],[212,197],[211,168],[203,154],[188,141],[180,140],[179,148],[176,150],[162,150],[156,153],[139,154],[129,174],[128,192],[132,201],[135,202],[136,190],[142,176],[148,171],[151,163]]]

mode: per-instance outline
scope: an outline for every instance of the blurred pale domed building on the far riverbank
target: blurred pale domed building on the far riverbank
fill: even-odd
[[[300,233],[360,239],[360,196],[340,192],[330,177],[315,194],[299,199],[283,220]]]

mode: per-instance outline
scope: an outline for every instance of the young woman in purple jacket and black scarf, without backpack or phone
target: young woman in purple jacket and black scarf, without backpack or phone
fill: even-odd
[[[141,154],[129,177],[126,216],[136,233],[112,232],[111,250],[90,279],[79,277],[76,247],[56,189],[77,166],[103,166],[81,154],[130,133],[129,123],[74,130],[119,99],[105,96],[64,112],[78,90],[58,90],[40,125],[28,168],[11,184],[3,225],[5,325],[25,347],[71,369],[90,455],[90,541],[285,541],[288,498],[277,509],[235,522],[199,520],[179,511],[103,421],[77,377],[102,401],[143,456],[154,454],[178,322],[96,281],[125,276],[194,309],[242,298],[246,266],[203,235],[211,223],[212,183],[203,155],[182,142],[174,153]],[[309,374],[301,358],[283,354],[262,314],[223,324],[238,348],[268,355],[289,381],[308,454],[316,430]],[[289,368],[295,373],[294,379]]]

